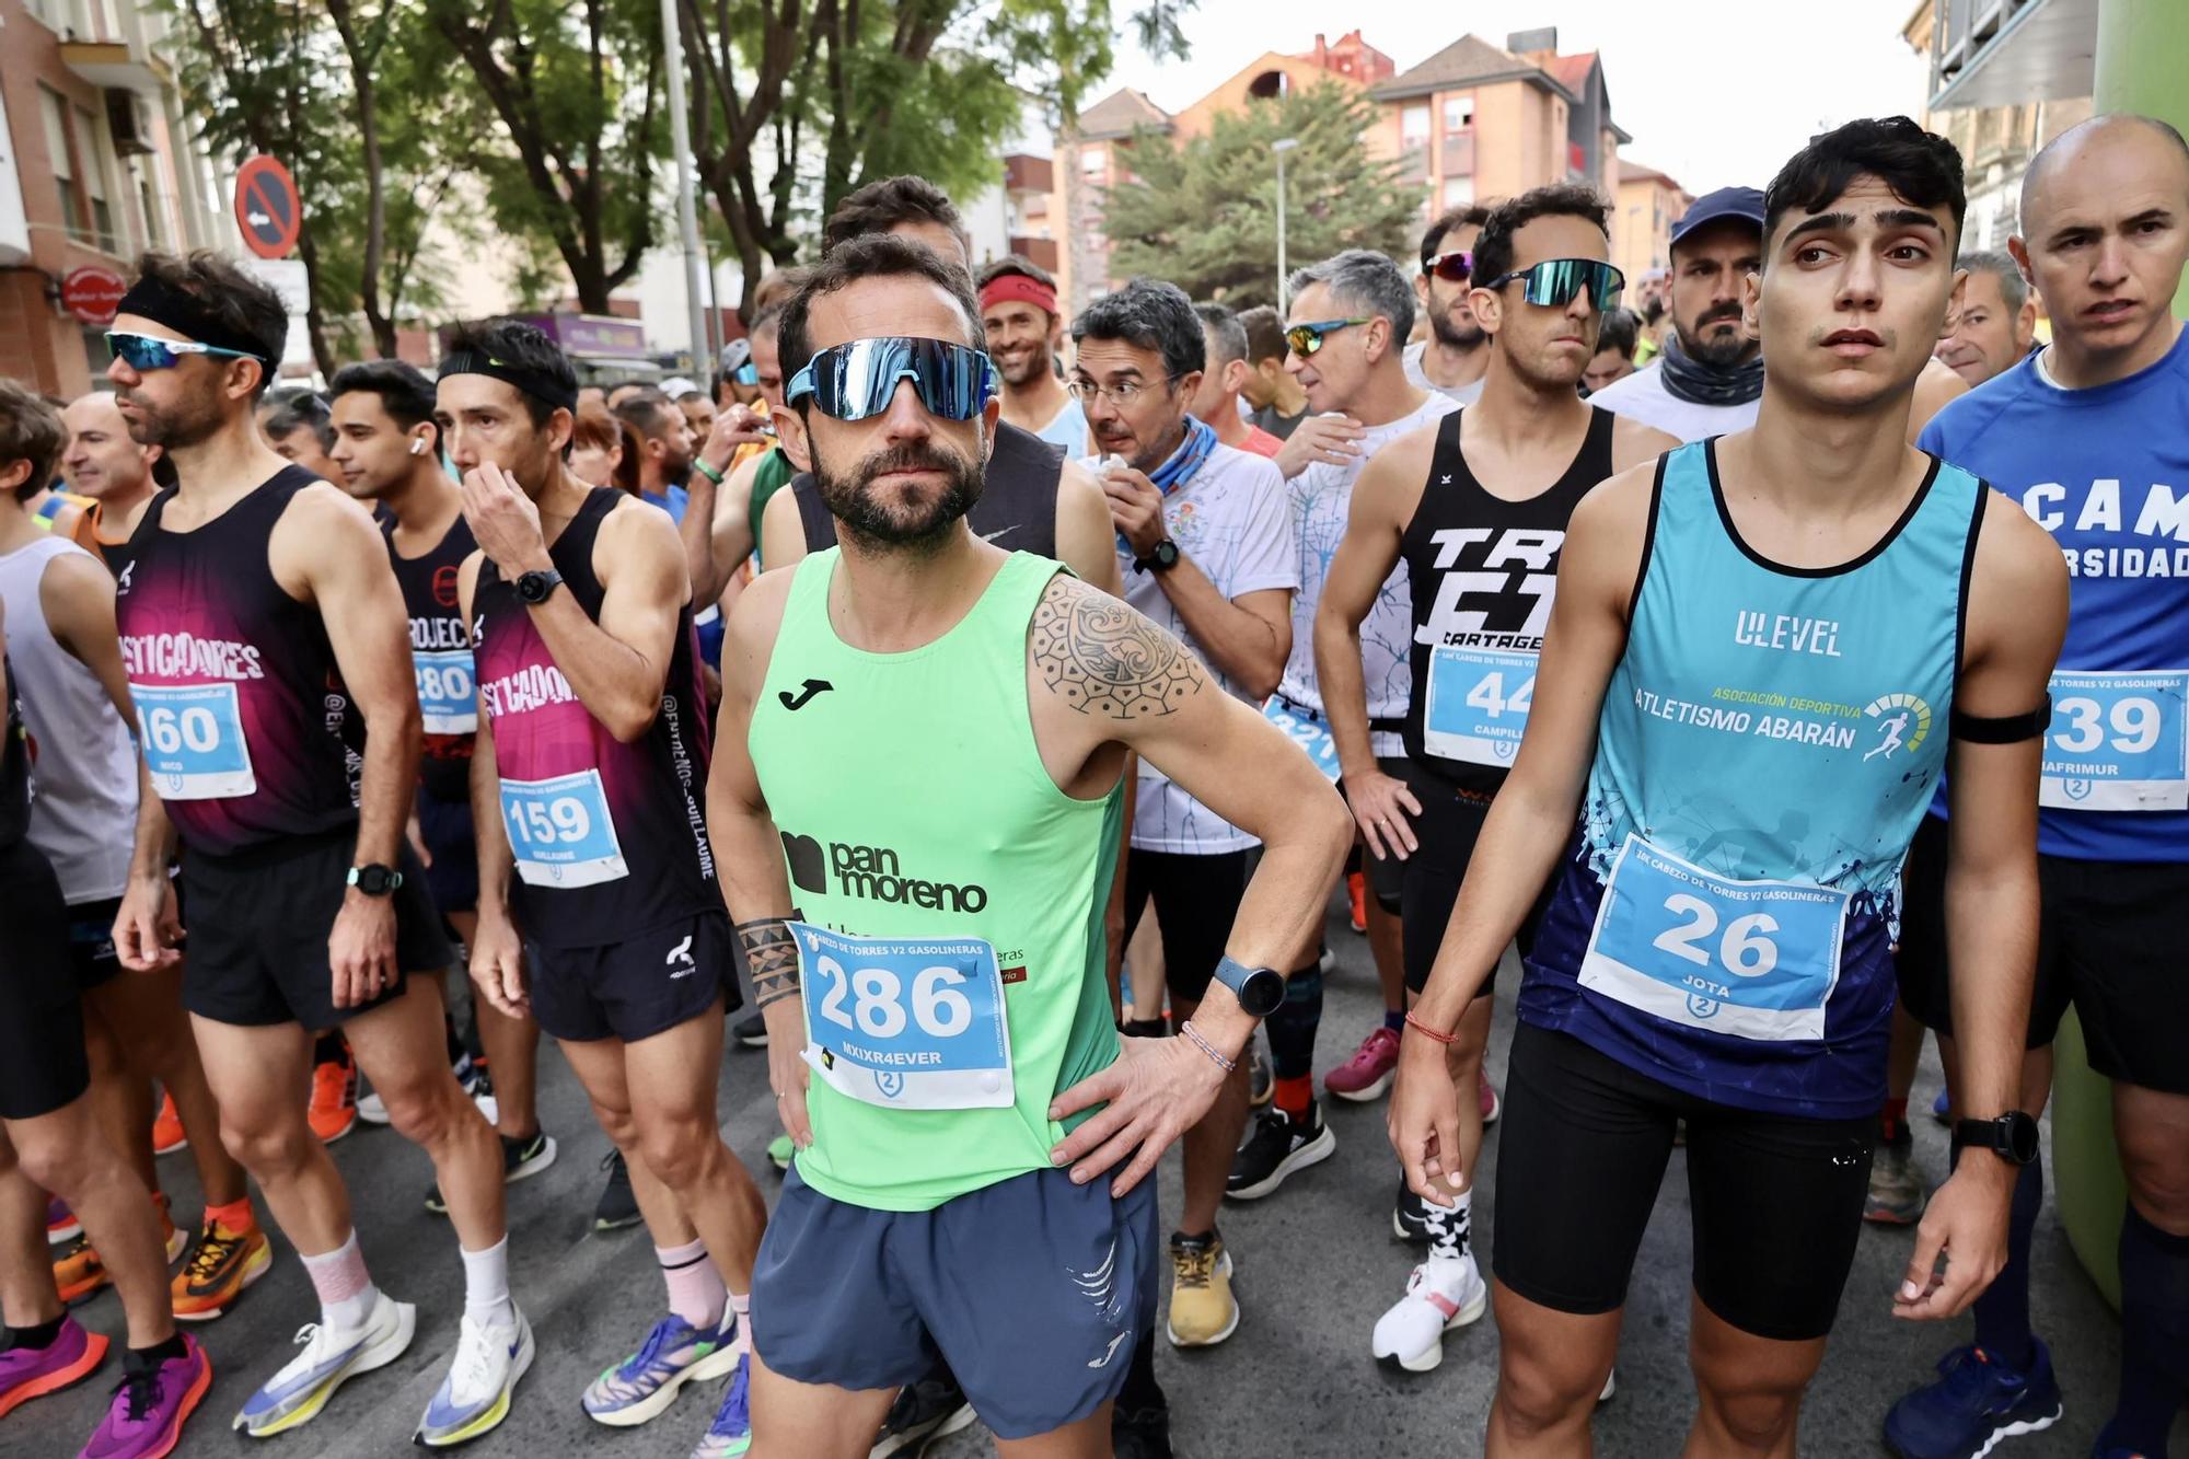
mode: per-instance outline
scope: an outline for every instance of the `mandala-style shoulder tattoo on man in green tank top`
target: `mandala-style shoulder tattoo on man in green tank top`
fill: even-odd
[[[1110,594],[1057,585],[1033,609],[1033,662],[1081,714],[1169,714],[1202,688],[1186,646]]]

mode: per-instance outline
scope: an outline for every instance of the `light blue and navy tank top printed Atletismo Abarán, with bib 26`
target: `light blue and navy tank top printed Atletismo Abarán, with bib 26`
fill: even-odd
[[[1878,1108],[1900,863],[1946,762],[1983,495],[1933,458],[1869,552],[1784,567],[1740,541],[1716,443],[1659,460],[1521,1019],[1716,1104]]]

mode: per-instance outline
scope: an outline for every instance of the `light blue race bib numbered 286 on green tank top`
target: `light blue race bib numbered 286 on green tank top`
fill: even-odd
[[[882,1108],[1009,1108],[1011,1027],[981,938],[856,938],[790,922],[806,1062]]]

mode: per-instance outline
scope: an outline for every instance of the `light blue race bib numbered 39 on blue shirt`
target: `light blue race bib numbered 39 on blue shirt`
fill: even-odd
[[[2189,811],[2189,673],[2051,679],[2038,804],[2053,811]]]

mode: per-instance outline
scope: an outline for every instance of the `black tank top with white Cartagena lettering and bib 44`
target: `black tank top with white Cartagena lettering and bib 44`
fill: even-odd
[[[1615,416],[1591,407],[1565,475],[1526,502],[1506,502],[1467,469],[1464,414],[1453,410],[1438,423],[1429,480],[1399,539],[1414,594],[1405,754],[1464,791],[1495,795],[1534,699],[1565,524],[1611,475]]]

